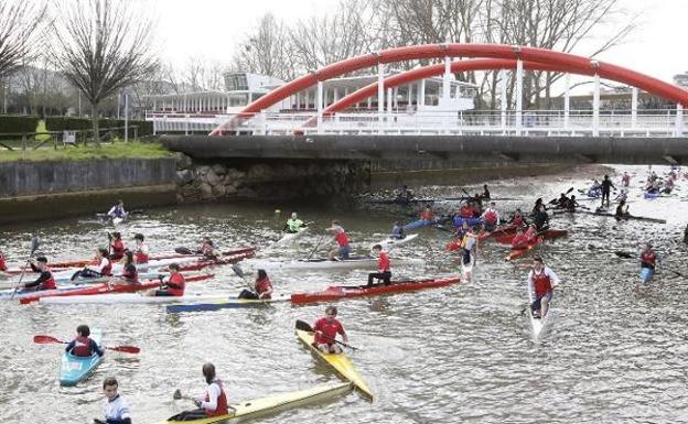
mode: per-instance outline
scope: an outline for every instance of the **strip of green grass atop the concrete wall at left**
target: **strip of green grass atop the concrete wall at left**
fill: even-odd
[[[93,144],[58,148],[41,148],[26,151],[0,150],[0,162],[15,161],[89,161],[97,159],[158,159],[170,157],[174,153],[170,152],[161,144],[141,142],[117,142],[101,144],[96,148]]]

